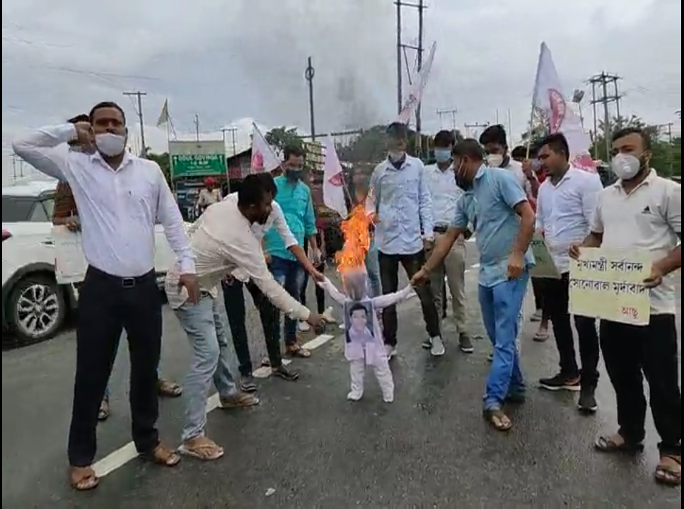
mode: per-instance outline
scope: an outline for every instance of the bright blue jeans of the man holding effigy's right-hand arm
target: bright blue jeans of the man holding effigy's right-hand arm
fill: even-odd
[[[492,368],[487,377],[485,410],[501,409],[506,397],[525,391],[516,339],[529,279],[530,274],[525,272],[518,279],[496,286],[480,286],[482,321],[494,346]]]

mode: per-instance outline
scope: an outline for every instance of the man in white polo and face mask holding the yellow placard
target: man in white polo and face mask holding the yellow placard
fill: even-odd
[[[660,435],[656,481],[668,486],[682,482],[682,394],[676,327],[675,272],[682,267],[682,187],[659,177],[649,166],[651,141],[640,129],[613,135],[611,168],[620,180],[598,195],[591,233],[570,251],[607,247],[649,252],[651,318],[648,325],[601,320],[599,337],[605,370],[618,402],[618,431],[596,442],[601,452],[640,452],[646,435],[649,384],[651,414]]]

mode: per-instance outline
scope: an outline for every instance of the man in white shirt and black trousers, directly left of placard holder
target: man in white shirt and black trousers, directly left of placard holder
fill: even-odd
[[[595,173],[572,168],[567,139],[560,133],[540,141],[538,158],[546,171],[546,179],[537,198],[538,231],[543,233],[561,279],[547,279],[545,301],[556,340],[560,371],[542,378],[539,385],[546,390],[580,391],[579,409],[596,411],[598,384],[598,332],[596,319],[574,317],[579,340],[581,368],[577,365],[569,307],[569,249],[589,234],[598,194],[603,190]]]

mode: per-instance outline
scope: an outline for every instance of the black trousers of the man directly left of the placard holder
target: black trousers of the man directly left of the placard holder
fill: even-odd
[[[598,384],[598,331],[596,318],[575,316],[575,328],[579,340],[579,358],[581,371],[575,355],[575,341],[570,324],[569,308],[569,275],[562,279],[544,281],[545,308],[547,309],[553,335],[556,339],[560,372],[562,375],[576,377],[581,374],[582,387],[596,388]]]

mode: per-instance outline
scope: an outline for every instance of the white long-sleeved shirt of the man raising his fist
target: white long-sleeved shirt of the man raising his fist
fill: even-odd
[[[30,131],[13,143],[17,156],[74,193],[86,262],[112,276],[135,277],[154,269],[154,226],[164,227],[182,271],[195,271],[178,204],[157,163],[126,153],[112,169],[99,153],[69,151],[74,124]]]

